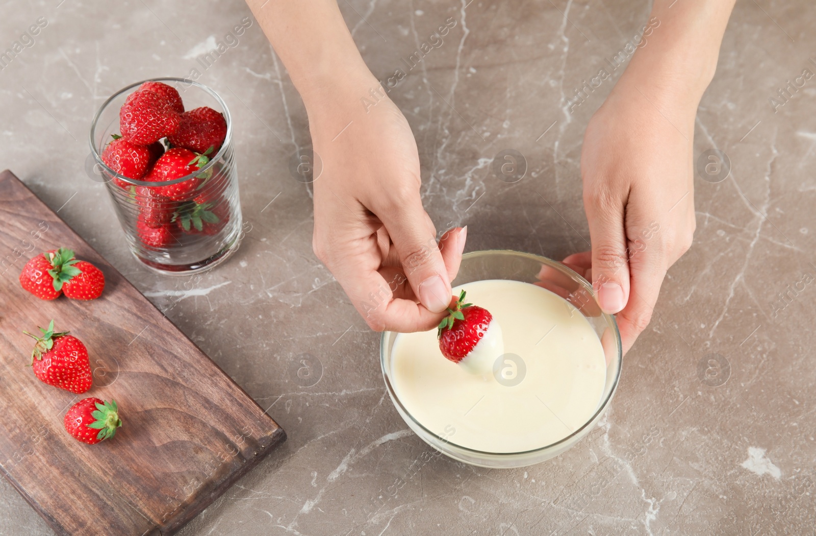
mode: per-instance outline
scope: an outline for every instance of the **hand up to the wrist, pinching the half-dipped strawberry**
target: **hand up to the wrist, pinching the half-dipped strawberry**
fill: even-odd
[[[449,230],[437,245],[414,135],[376,79],[364,80],[308,106],[322,160],[314,252],[371,328],[427,330],[450,304],[466,230]]]

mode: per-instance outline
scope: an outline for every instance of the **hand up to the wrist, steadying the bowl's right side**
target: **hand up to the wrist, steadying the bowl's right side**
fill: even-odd
[[[583,138],[583,203],[592,251],[564,259],[601,309],[617,313],[623,351],[649,324],[666,270],[694,235],[697,103],[623,75]]]

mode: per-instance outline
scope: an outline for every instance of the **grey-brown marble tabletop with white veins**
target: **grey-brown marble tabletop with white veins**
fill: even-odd
[[[470,251],[585,248],[583,129],[649,2],[339,3],[372,71],[406,71],[391,97],[415,132],[438,229],[468,225]],[[311,190],[288,171],[309,144],[302,102],[254,20],[229,37],[251,16],[242,2],[0,10],[0,51],[40,24],[0,71],[0,167],[60,209],[288,433],[181,534],[814,534],[816,79],[770,101],[816,72],[809,2],[738,2],[694,139],[695,155],[725,152],[730,175],[695,179],[694,246],[669,271],[609,413],[576,448],[519,470],[416,463],[429,448],[388,400],[379,336],[312,252]],[[444,42],[408,69],[448,20]],[[220,42],[229,46],[212,55]],[[604,67],[611,79],[571,113],[574,88]],[[85,172],[95,110],[157,76],[215,88],[236,127],[249,231],[194,285],[134,261],[104,186]],[[491,172],[505,149],[525,155],[523,180]],[[311,386],[293,374],[303,354],[322,365]],[[5,480],[0,534],[51,534]]]

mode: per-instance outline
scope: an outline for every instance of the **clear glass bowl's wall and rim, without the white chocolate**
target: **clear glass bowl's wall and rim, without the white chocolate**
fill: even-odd
[[[514,453],[490,453],[468,449],[455,444],[449,437],[438,436],[418,422],[401,403],[392,385],[392,347],[397,333],[384,332],[379,345],[379,361],[388,395],[397,408],[397,413],[408,427],[433,449],[454,458],[480,467],[526,467],[553,458],[570,449],[586,436],[604,414],[618,386],[623,352],[620,333],[614,316],[607,315],[597,306],[592,285],[560,262],[531,253],[510,250],[490,250],[466,253],[462,257],[459,275],[453,286],[481,281],[484,279],[509,279],[536,284],[556,293],[570,302],[588,320],[601,342],[606,359],[606,377],[601,402],[596,412],[582,426],[569,436],[538,449]]]

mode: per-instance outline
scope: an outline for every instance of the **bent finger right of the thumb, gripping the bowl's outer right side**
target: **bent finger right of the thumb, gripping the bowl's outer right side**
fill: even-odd
[[[665,259],[659,248],[650,248],[632,256],[629,270],[632,274],[629,302],[616,319],[623,353],[632,348],[636,338],[649,325],[658,301],[660,285],[666,276]]]

